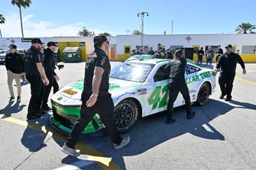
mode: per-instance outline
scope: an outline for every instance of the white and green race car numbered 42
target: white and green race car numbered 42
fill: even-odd
[[[167,110],[169,95],[170,59],[128,59],[115,66],[110,72],[109,92],[115,104],[116,126],[125,133],[134,126],[139,117],[147,117]],[[197,66],[188,60],[186,84],[192,103],[206,104],[209,95],[215,91],[215,74],[212,69]],[[64,86],[51,98],[53,127],[70,133],[79,118],[83,79]],[[174,107],[185,101],[178,95]],[[83,133],[93,133],[104,128],[99,115],[92,119]]]

